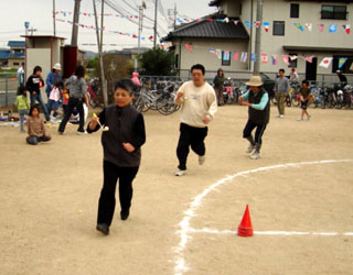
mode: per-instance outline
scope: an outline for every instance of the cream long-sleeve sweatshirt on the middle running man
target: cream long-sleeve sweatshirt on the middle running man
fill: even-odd
[[[216,96],[213,87],[205,82],[201,87],[196,87],[193,81],[184,82],[179,91],[184,92],[184,96],[176,101],[181,105],[180,121],[190,127],[204,128],[207,124],[203,122],[204,117],[213,119],[217,111]],[[178,92],[179,92],[178,91]]]

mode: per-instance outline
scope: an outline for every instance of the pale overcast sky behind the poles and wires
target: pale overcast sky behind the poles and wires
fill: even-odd
[[[145,0],[147,4],[146,15],[153,19],[154,0]],[[163,9],[159,9],[159,28],[158,31],[161,36],[164,36],[168,32],[168,19],[163,18],[163,13],[168,16],[168,9],[173,9],[176,3],[176,10],[180,15],[189,18],[201,18],[203,15],[213,13],[215,8],[210,8],[211,0],[160,0]],[[141,4],[142,0],[109,0],[120,11],[124,10],[129,15],[138,15],[138,12],[132,8]],[[73,12],[74,0],[55,0],[56,11]],[[129,7],[131,6],[131,7]],[[53,34],[53,1],[52,0],[1,0],[1,16],[0,16],[0,47],[6,47],[9,40],[23,40],[20,35],[24,34],[24,22],[30,22],[30,28],[34,28],[38,31],[36,35]],[[100,2],[97,2],[97,8],[100,11]],[[81,12],[93,13],[93,0],[82,0]],[[99,13],[99,12],[98,12]],[[118,14],[109,6],[105,6],[105,13]],[[73,21],[73,15],[57,14],[57,20]],[[105,44],[118,44],[121,47],[137,46],[137,38],[131,36],[124,36],[111,33],[118,31],[122,33],[138,34],[138,20],[133,20],[132,23],[128,19],[118,16],[105,16]],[[93,16],[81,15],[79,23],[84,25],[94,25],[95,20]],[[153,35],[153,23],[149,19],[143,19],[143,31],[141,36],[149,37]],[[66,43],[71,43],[72,25],[67,22],[56,21],[56,35],[67,38]],[[82,50],[88,50],[97,52],[96,46],[85,46],[83,44],[95,44],[96,36],[94,30],[87,30],[79,28],[78,46]],[[152,43],[141,41],[142,46],[151,46]],[[105,50],[117,48],[116,46],[105,46]]]

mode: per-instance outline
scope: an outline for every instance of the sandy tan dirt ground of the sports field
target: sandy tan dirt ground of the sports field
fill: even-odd
[[[353,274],[353,112],[300,109],[271,119],[261,158],[245,153],[242,131],[247,109],[218,109],[206,138],[206,162],[190,154],[188,174],[175,177],[179,113],[145,114],[147,143],[133,182],[130,218],[119,205],[104,237],[95,230],[103,183],[100,133],[66,135],[51,127],[52,141],[26,145],[19,128],[0,127],[0,274]],[[180,222],[196,196],[227,175],[279,164],[234,177],[205,196],[190,219],[180,250]],[[246,205],[255,231],[335,232],[334,235],[235,234]],[[234,231],[222,233],[221,231]],[[179,249],[179,253],[175,250]],[[176,264],[182,260],[182,267]],[[176,263],[178,262],[178,263]]]

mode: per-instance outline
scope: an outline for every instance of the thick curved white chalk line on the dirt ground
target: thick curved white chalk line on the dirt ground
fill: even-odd
[[[266,167],[259,167],[256,169],[249,169],[236,173],[234,175],[228,175],[215,184],[211,185],[208,188],[206,188],[202,194],[197,195],[193,201],[190,204],[189,209],[185,211],[185,215],[181,222],[178,224],[179,230],[176,231],[176,234],[180,237],[179,245],[174,249],[174,252],[176,253],[176,260],[175,266],[174,266],[174,275],[182,275],[183,273],[189,271],[189,267],[185,263],[184,258],[184,250],[186,248],[188,241],[191,239],[190,232],[192,232],[194,229],[190,227],[190,221],[193,217],[195,217],[195,211],[197,208],[202,205],[202,200],[204,197],[206,197],[212,190],[215,190],[221,185],[224,185],[226,183],[229,183],[236,177],[246,176],[249,174],[255,174],[258,172],[266,172],[266,170],[272,170],[272,169],[280,169],[280,168],[289,168],[289,167],[299,167],[301,165],[315,165],[315,164],[332,164],[332,163],[349,163],[353,162],[353,160],[327,160],[327,161],[315,161],[315,162],[299,162],[299,163],[287,163],[287,164],[278,164],[272,166],[266,166]],[[232,232],[232,231],[229,231]],[[286,232],[286,231],[255,231],[255,232]],[[324,232],[323,232],[324,233]],[[263,233],[265,234],[265,233]],[[267,233],[269,234],[269,233]],[[346,233],[347,235],[351,235],[350,232]]]

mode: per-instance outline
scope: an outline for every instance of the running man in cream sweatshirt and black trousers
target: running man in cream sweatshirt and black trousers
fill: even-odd
[[[192,80],[184,82],[175,98],[181,106],[180,138],[176,147],[179,160],[175,176],[186,173],[186,158],[190,146],[199,155],[199,164],[205,162],[205,143],[207,124],[217,111],[216,96],[213,87],[204,80],[205,68],[201,64],[191,67]]]

